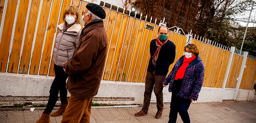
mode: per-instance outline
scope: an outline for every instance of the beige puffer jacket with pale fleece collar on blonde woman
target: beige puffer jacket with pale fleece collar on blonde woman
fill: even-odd
[[[80,24],[74,24],[63,33],[64,25],[65,23],[62,23],[58,26],[59,33],[56,37],[55,48],[53,50],[53,62],[60,67],[63,67],[63,63],[73,56],[81,34]]]

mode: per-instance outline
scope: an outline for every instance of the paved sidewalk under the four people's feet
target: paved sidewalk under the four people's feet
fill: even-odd
[[[95,108],[91,110],[91,123],[167,123],[170,103],[164,104],[163,116],[155,119],[157,107],[150,104],[147,116],[134,116],[141,107]],[[56,112],[56,110],[53,110]],[[0,123],[35,123],[43,110],[0,111]],[[191,123],[256,123],[256,95],[253,101],[223,101],[221,103],[192,103],[188,110]],[[50,123],[60,123],[62,114],[50,116]],[[177,123],[182,123],[178,116]]]

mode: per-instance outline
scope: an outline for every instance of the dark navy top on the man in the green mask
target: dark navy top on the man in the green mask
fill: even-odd
[[[148,64],[148,72],[153,72],[155,70],[155,74],[166,76],[169,70],[169,66],[174,62],[175,59],[175,45],[173,42],[168,40],[160,49],[158,54],[158,59],[155,62],[155,67],[152,62],[152,56],[154,56],[155,51],[157,50],[157,45],[155,44],[155,40],[150,42],[150,60]]]

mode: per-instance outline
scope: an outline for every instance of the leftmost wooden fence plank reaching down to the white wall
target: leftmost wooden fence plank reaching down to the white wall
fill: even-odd
[[[0,44],[0,72],[6,72],[12,29],[18,0],[8,0]]]

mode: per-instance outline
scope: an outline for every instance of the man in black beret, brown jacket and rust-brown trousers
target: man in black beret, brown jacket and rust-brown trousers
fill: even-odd
[[[98,93],[106,59],[108,38],[103,20],[106,13],[101,6],[86,5],[82,12],[83,27],[78,45],[71,59],[63,64],[69,74],[66,88],[71,94],[61,123],[89,123],[92,97]]]

